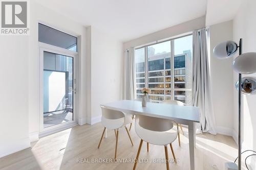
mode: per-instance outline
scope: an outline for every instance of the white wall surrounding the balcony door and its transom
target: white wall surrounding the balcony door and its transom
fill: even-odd
[[[86,28],[40,4],[30,2],[29,36],[29,134],[31,141],[38,139],[39,133],[39,51],[38,22],[78,37],[78,119],[86,123]]]

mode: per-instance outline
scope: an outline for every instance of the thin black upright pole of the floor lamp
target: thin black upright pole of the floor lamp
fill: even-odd
[[[242,38],[239,40],[239,55],[242,54]],[[239,89],[238,89],[238,170],[241,170],[241,91],[242,91],[242,74],[239,73]]]

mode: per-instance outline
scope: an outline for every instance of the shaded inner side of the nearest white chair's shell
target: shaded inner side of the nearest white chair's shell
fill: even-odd
[[[137,115],[136,121],[139,121],[140,127],[157,132],[168,131],[174,126],[173,120],[144,115]]]

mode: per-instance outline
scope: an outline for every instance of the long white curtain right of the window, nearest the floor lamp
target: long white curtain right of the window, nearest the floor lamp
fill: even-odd
[[[203,28],[193,32],[193,106],[200,107],[196,131],[216,134],[209,71],[206,29]]]

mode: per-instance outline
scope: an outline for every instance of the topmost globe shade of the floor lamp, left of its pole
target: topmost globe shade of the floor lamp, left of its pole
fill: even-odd
[[[238,45],[234,41],[225,41],[214,47],[214,56],[219,59],[230,58],[237,51]]]

